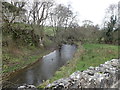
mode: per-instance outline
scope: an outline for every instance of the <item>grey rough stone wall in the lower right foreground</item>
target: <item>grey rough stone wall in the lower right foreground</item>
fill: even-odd
[[[119,80],[120,59],[112,59],[98,67],[74,72],[68,78],[62,78],[47,85],[45,89],[118,88],[120,85],[116,83]]]

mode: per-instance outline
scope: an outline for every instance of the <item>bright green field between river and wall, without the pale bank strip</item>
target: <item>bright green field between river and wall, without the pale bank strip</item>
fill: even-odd
[[[76,69],[85,70],[89,66],[98,66],[105,61],[118,58],[118,47],[106,44],[85,44],[86,52],[77,60]]]

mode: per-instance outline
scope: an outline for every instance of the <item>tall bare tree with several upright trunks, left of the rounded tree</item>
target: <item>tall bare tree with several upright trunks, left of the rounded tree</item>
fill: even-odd
[[[42,1],[35,1],[33,2],[32,9],[29,11],[29,17],[32,18],[33,28],[40,36],[40,45],[43,46],[44,42],[44,23],[48,18],[48,14],[50,8],[53,6],[53,1],[49,0],[42,0]]]

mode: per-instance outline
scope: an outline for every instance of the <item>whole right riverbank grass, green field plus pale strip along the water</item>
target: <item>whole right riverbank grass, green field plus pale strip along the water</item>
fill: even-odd
[[[44,88],[47,84],[60,78],[68,77],[75,71],[85,70],[90,66],[98,66],[113,58],[118,58],[118,46],[107,44],[84,44],[78,47],[73,60],[61,67],[51,79],[39,85],[38,88]]]

